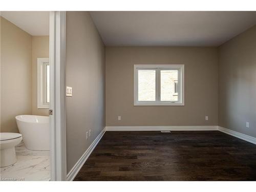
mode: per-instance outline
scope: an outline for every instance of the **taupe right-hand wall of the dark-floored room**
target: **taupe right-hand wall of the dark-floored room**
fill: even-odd
[[[256,26],[219,47],[219,125],[256,137]]]

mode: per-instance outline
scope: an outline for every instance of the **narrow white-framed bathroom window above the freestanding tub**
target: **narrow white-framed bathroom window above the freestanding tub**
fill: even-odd
[[[50,102],[49,58],[37,58],[37,108],[49,108]]]

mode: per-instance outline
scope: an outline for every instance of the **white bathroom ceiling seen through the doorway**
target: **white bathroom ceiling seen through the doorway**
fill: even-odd
[[[1,16],[30,35],[49,35],[48,11],[1,11]]]

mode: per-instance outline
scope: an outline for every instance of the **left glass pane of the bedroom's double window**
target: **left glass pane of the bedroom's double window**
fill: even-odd
[[[138,100],[156,100],[156,71],[138,70]]]

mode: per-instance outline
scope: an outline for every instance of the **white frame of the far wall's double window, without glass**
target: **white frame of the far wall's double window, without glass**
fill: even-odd
[[[138,100],[138,70],[156,70],[156,101]],[[178,101],[161,101],[160,70],[178,70]],[[134,105],[184,105],[184,65],[134,65]]]

